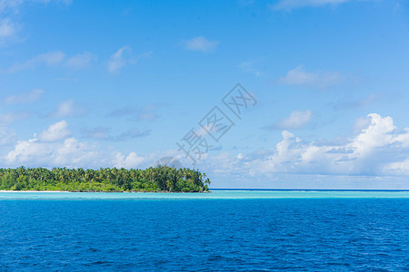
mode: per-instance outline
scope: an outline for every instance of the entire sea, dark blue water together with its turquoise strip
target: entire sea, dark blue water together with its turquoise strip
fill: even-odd
[[[0,270],[404,271],[409,192],[0,192]]]

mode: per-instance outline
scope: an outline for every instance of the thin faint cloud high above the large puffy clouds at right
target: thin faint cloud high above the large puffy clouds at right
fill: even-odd
[[[339,72],[307,72],[302,65],[288,71],[288,73],[278,79],[278,83],[283,85],[294,85],[304,87],[316,87],[324,89],[344,82],[344,76]]]

